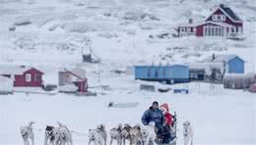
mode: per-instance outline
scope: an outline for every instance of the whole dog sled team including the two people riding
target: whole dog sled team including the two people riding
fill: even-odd
[[[116,141],[117,145],[125,145],[126,142],[129,145],[137,145],[138,143],[154,145],[155,142],[157,144],[168,144],[176,138],[175,122],[176,117],[170,115],[168,105],[162,104],[159,108],[159,103],[155,101],[143,114],[143,125],[131,126],[126,123],[111,128],[109,131],[110,145],[112,145],[113,141]],[[20,127],[25,145],[30,145],[30,141],[34,145],[33,123],[31,121],[28,126]],[[44,145],[73,145],[72,134],[68,127],[58,121],[57,124],[57,127],[46,126]],[[88,133],[89,145],[92,143],[106,145],[107,134],[108,132],[103,124],[99,124],[95,129],[90,129]],[[183,123],[183,140],[184,145],[193,145],[193,127],[190,121]]]

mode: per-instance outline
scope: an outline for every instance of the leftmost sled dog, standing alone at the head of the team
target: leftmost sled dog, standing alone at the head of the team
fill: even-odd
[[[32,124],[34,122],[31,121],[27,126],[20,126],[20,131],[24,140],[24,145],[30,145],[30,140],[32,141],[32,145],[34,144],[34,134],[32,131]]]

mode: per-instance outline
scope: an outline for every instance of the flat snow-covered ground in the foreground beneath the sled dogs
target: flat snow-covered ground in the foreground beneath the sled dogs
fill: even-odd
[[[122,83],[125,81],[120,80]],[[256,113],[255,95],[243,91],[220,89],[209,90],[209,85],[190,83],[192,92],[186,94],[140,92],[133,88],[134,82],[126,82],[126,89],[115,88],[106,95],[97,97],[74,97],[58,94],[54,96],[22,93],[0,97],[1,145],[22,143],[19,126],[35,121],[35,144],[42,144],[45,125],[56,125],[62,121],[74,133],[74,144],[88,143],[88,130],[104,123],[109,131],[118,123],[141,123],[143,112],[153,101],[169,103],[171,112],[178,117],[178,144],[183,144],[183,121],[193,122],[195,127],[194,144],[255,144]],[[178,87],[178,86],[173,86]],[[182,87],[182,85],[180,86]],[[135,108],[107,108],[109,102],[139,103]],[[109,141],[109,140],[108,140]]]

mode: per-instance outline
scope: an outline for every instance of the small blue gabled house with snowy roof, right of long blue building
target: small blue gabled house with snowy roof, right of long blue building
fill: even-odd
[[[244,61],[236,55],[213,54],[205,62],[223,63],[224,73],[244,73]]]

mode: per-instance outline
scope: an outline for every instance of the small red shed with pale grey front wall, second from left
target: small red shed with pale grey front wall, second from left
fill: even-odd
[[[59,85],[63,86],[70,84],[75,84],[80,92],[88,92],[86,71],[79,67],[72,70],[61,70],[59,72]]]

